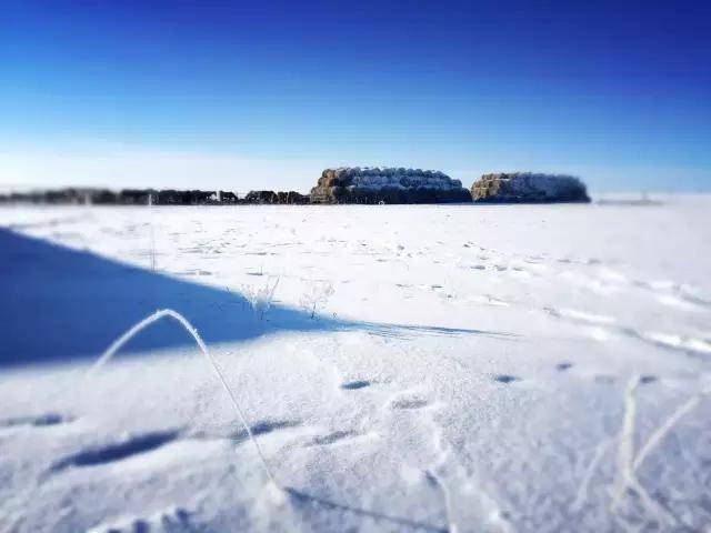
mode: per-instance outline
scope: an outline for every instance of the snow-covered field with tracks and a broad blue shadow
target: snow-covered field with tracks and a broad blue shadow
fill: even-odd
[[[660,200],[0,209],[0,531],[710,531],[711,198]],[[276,485],[171,318],[88,374],[164,308]]]

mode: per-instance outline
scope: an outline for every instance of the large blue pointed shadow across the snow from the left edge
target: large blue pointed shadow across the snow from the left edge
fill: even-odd
[[[93,359],[158,309],[183,314],[208,344],[283,331],[361,330],[387,336],[487,334],[480,330],[374,324],[319,318],[272,304],[259,321],[239,293],[192,283],[0,229],[0,366]],[[123,351],[191,344],[173,321],[160,321]]]

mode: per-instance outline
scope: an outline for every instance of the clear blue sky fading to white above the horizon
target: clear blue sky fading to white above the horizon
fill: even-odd
[[[0,185],[711,190],[711,2],[0,2]]]

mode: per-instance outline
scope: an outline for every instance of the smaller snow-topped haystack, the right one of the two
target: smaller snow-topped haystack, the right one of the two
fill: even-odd
[[[484,174],[471,187],[474,202],[589,202],[582,181],[572,175],[513,172]]]

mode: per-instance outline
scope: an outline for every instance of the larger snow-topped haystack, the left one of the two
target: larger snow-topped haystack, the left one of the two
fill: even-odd
[[[311,189],[314,203],[471,202],[462,182],[437,170],[340,168],[321,173]]]

